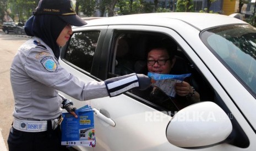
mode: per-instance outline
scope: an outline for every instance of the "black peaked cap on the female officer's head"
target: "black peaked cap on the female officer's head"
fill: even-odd
[[[58,15],[73,26],[83,26],[87,23],[75,13],[73,2],[70,0],[40,0],[34,15]]]

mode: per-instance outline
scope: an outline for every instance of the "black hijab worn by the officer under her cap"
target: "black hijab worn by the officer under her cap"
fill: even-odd
[[[26,21],[25,32],[28,36],[41,38],[58,59],[60,50],[56,40],[66,25],[67,23],[57,15],[35,15]]]

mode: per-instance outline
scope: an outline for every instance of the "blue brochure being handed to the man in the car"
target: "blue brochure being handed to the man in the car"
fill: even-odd
[[[151,78],[152,86],[159,88],[164,91],[165,94],[171,97],[175,97],[175,84],[182,82],[185,78],[189,77],[191,73],[188,74],[157,74],[148,72],[148,76]]]

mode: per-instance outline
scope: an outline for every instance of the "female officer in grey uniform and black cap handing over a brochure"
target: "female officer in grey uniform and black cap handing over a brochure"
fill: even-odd
[[[135,73],[83,83],[59,66],[59,47],[70,38],[71,26],[83,25],[86,22],[75,13],[70,0],[41,0],[26,22],[25,32],[32,38],[21,45],[10,68],[15,100],[10,151],[67,149],[61,146],[61,108],[77,115],[73,103],[62,99],[58,90],[78,100],[90,100],[150,85],[149,77]]]

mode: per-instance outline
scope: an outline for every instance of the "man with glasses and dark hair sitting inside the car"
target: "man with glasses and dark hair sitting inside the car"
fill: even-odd
[[[172,40],[164,39],[151,43],[146,58],[148,72],[157,74],[177,74],[177,69],[173,69],[175,63],[180,63],[176,62],[176,52],[177,45]],[[179,74],[185,74],[185,72],[187,72],[185,69],[178,70]],[[183,80],[183,82],[175,84],[175,97],[168,96],[164,91],[154,86],[150,86],[150,88],[144,91],[134,91],[134,93],[138,93],[137,95],[169,111],[177,111],[200,101],[199,92],[197,92],[189,82],[190,79],[188,77]]]

